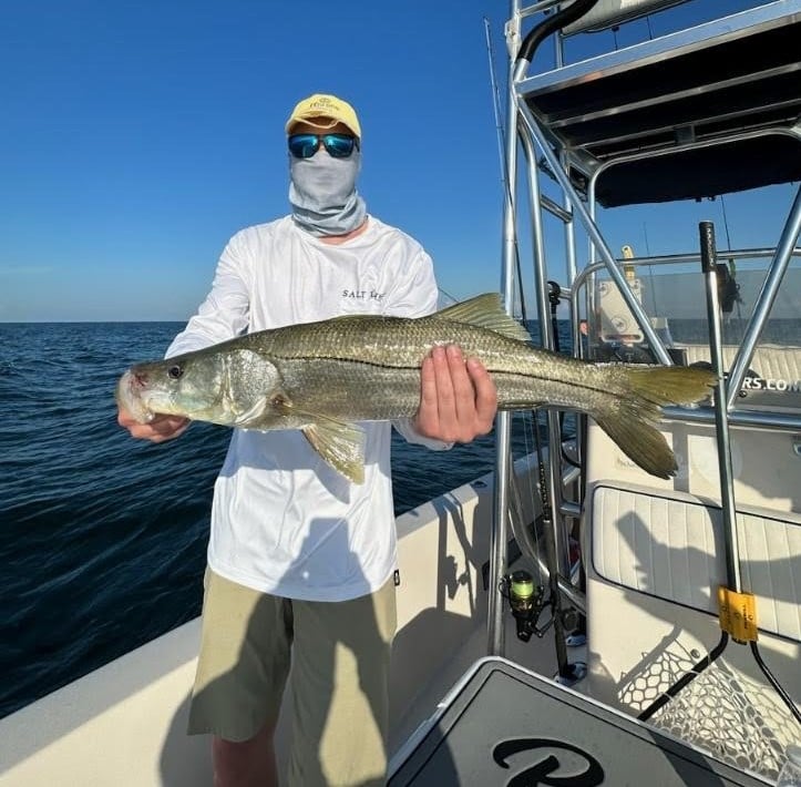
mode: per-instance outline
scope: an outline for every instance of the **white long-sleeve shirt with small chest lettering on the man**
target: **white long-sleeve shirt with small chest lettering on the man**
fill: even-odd
[[[286,216],[229,241],[208,296],[166,355],[345,314],[419,317],[437,299],[431,258],[399,229],[370,216],[363,233],[331,245]],[[380,587],[397,561],[391,427],[361,426],[362,484],[330,468],[300,431],[234,429],[214,488],[210,569],[290,599],[342,601]],[[410,441],[448,447],[408,421],[396,427]]]

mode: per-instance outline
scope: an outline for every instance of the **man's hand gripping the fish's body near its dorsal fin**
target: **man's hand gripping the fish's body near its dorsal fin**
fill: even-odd
[[[419,435],[470,442],[492,430],[496,410],[495,384],[480,360],[465,362],[455,345],[431,350],[423,360],[420,407],[412,419]]]

